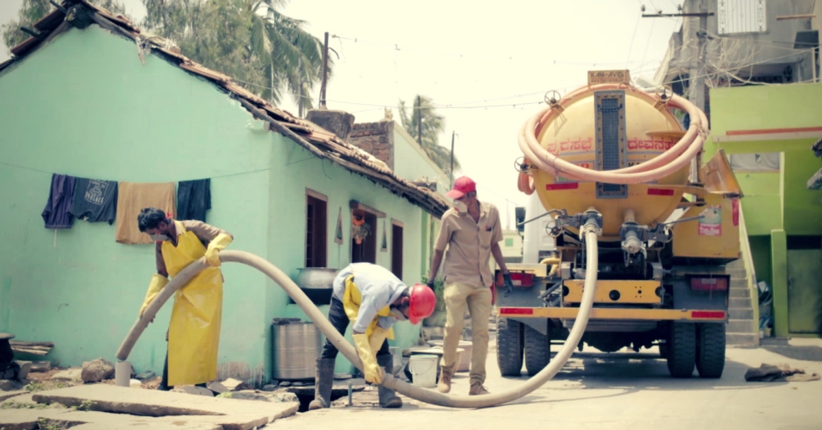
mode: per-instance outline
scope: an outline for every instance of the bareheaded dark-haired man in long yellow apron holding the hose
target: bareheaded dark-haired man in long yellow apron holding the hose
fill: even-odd
[[[148,207],[137,215],[137,226],[156,241],[157,273],[151,277],[145,308],[175,276],[192,262],[205,257],[209,266],[174,295],[167,339],[169,349],[159,390],[178,385],[205,386],[217,377],[220,318],[223,312],[223,274],[219,251],[233,236],[202,221],[178,221],[163,210]]]

